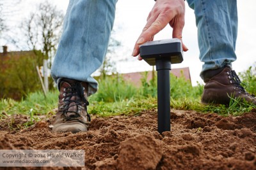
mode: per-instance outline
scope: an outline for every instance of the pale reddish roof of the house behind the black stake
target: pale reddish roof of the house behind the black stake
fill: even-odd
[[[153,78],[153,71],[147,71],[147,72],[148,72],[147,80],[150,81]],[[177,76],[177,77],[184,76],[185,80],[188,80],[191,82],[189,67],[172,69],[170,73],[172,73],[174,76]],[[130,81],[131,83],[139,87],[141,85],[141,78],[143,78],[143,74],[145,74],[145,72],[124,73],[124,74],[121,74],[121,76],[124,78],[125,81]]]

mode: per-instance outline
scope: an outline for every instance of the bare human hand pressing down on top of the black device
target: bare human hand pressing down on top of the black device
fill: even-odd
[[[172,38],[179,38],[182,41],[182,30],[185,24],[185,3],[184,0],[157,0],[150,11],[147,24],[141,32],[137,42],[134,45],[132,56],[140,54],[140,45],[153,41],[154,36],[169,24],[172,28]],[[188,48],[182,43],[184,52]],[[138,60],[142,60],[140,55]]]

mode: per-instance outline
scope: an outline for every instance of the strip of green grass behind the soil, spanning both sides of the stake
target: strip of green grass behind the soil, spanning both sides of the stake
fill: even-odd
[[[244,73],[240,73],[243,81],[252,88],[248,92],[254,93],[256,89],[255,68],[250,67]],[[131,83],[125,82],[121,78],[106,78],[100,80],[99,91],[89,97],[90,105],[88,112],[99,117],[113,115],[140,115],[142,111],[157,108],[157,84],[156,79],[146,81],[147,73],[141,79],[142,86],[134,87]],[[219,115],[242,115],[254,108],[250,104],[240,103],[238,99],[232,99],[229,106],[224,105],[203,105],[200,97],[204,86],[198,84],[192,87],[184,77],[176,78],[171,75],[171,108],[175,110],[194,110],[200,113],[218,113]],[[30,119],[24,127],[29,127],[38,120],[40,116],[52,117],[55,114],[54,108],[58,104],[58,91],[52,91],[44,96],[42,92],[31,93],[22,101],[12,99],[1,99],[0,119],[6,115],[22,114],[28,115]]]

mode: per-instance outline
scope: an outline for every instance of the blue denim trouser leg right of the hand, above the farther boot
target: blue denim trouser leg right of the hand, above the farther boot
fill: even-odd
[[[195,10],[202,72],[236,60],[236,0],[187,0]],[[200,76],[203,78],[203,74]]]

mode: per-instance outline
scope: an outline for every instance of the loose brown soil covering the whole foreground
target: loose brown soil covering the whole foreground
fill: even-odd
[[[52,133],[51,120],[10,132],[8,120],[0,123],[0,149],[83,149],[85,165],[79,169],[256,169],[255,112],[221,117],[172,110],[172,131],[162,135],[155,110],[137,117],[94,117],[90,131],[77,134]],[[27,118],[15,120],[19,127]]]

